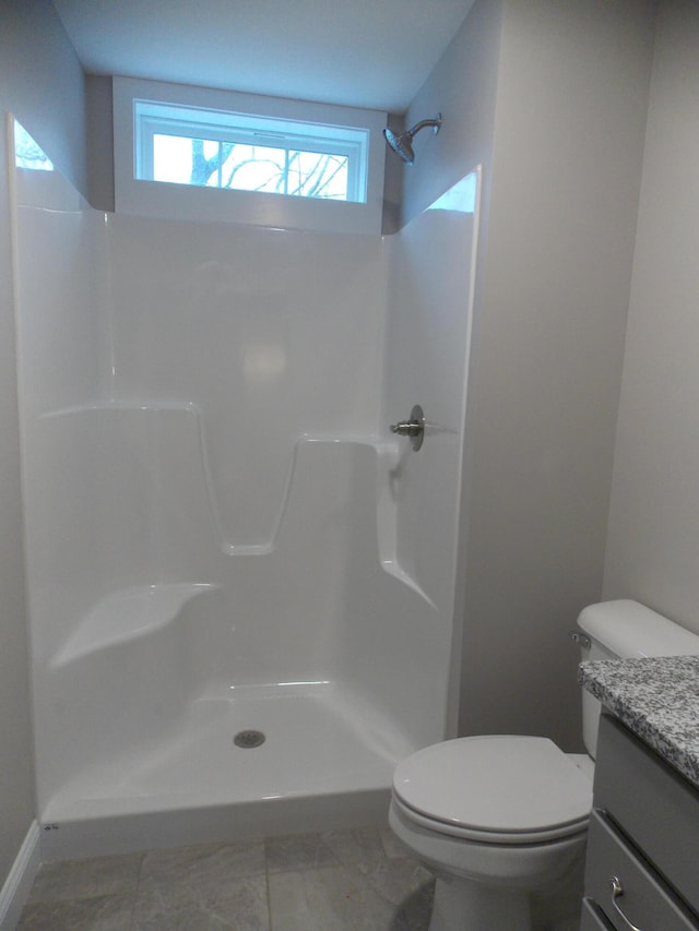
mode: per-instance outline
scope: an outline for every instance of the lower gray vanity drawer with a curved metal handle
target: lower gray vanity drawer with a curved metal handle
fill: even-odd
[[[624,894],[616,899],[628,921],[642,931],[697,931],[699,924],[654,870],[627,846],[626,840],[604,815],[594,811],[590,820],[585,896],[602,908],[611,926],[628,931],[615,908],[612,876]],[[594,928],[594,924],[592,926]]]

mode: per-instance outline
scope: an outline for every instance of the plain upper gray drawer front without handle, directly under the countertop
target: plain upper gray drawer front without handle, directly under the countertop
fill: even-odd
[[[594,805],[699,915],[699,791],[608,715],[600,721]]]

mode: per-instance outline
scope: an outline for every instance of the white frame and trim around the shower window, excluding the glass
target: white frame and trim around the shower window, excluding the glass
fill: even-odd
[[[250,224],[281,229],[380,234],[384,164],[381,131],[386,126],[386,114],[131,77],[114,77],[112,87],[115,205],[118,213]],[[356,140],[364,134],[367,160],[364,172],[358,169],[357,187],[360,191],[363,188],[366,190],[366,202],[139,178],[139,159],[142,163],[143,150],[137,132],[137,107],[143,105],[143,102],[145,105],[141,106],[141,109],[145,115],[147,132],[152,129],[147,126],[147,104],[152,103],[153,110],[169,105],[173,112],[177,108],[192,115],[200,111],[203,117],[201,124],[192,119],[183,133],[186,136],[190,135],[191,128],[197,126],[196,138],[202,138],[200,130],[209,127],[212,131],[235,141],[234,136],[242,139],[246,132],[253,132],[256,121],[263,128],[273,129],[276,126],[289,138],[293,136],[295,124],[306,139],[309,138],[310,128],[310,138],[327,140],[324,144],[329,148],[336,145],[333,142],[335,127],[340,128],[340,136],[343,128],[346,130],[345,135],[354,135]],[[233,129],[229,124],[226,126],[227,121],[229,123],[232,120]],[[186,123],[186,120],[179,121],[180,126]],[[173,127],[176,126],[177,121],[173,122]],[[263,144],[263,140],[260,144]],[[343,146],[344,143],[340,145]],[[298,148],[304,150],[304,146],[299,145]]]

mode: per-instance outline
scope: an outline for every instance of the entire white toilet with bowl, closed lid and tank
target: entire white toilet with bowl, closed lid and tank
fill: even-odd
[[[585,608],[573,640],[584,660],[699,654],[699,636],[630,600]],[[600,718],[600,703],[582,695],[587,754],[485,735],[396,766],[389,824],[437,878],[429,931],[579,927]]]

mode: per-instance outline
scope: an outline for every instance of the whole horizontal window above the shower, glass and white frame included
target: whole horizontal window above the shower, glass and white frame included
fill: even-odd
[[[116,207],[379,232],[384,122],[372,110],[115,79]]]

